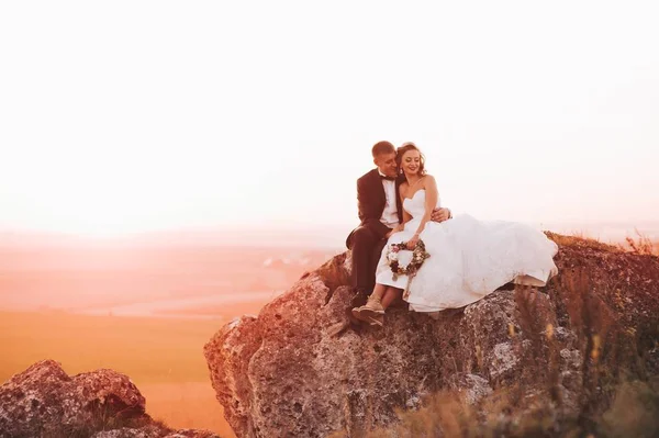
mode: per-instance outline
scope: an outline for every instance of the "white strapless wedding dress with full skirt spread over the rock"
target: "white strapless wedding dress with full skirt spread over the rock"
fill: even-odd
[[[376,270],[376,282],[405,290],[407,276],[393,280],[387,252],[391,244],[407,242],[418,229],[425,212],[425,190],[405,199],[403,209],[413,218],[389,238]],[[443,223],[428,222],[420,237],[431,257],[403,295],[412,311],[462,307],[511,281],[543,287],[558,272],[554,263],[558,246],[544,233],[521,223],[458,215]],[[401,266],[406,266],[412,251],[400,251],[398,258]]]

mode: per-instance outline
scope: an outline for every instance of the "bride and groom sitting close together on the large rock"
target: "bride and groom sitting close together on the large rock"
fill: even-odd
[[[346,240],[354,318],[381,326],[401,296],[411,311],[434,313],[471,304],[509,282],[544,287],[558,272],[558,247],[541,232],[453,217],[413,143],[396,150],[379,142],[371,153],[377,168],[357,180],[361,224]]]

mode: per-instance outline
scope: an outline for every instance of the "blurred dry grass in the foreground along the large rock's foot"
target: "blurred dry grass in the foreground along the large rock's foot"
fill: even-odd
[[[494,438],[494,437],[657,437],[659,434],[659,384],[625,382],[612,406],[588,431],[576,419],[556,422],[555,406],[532,401],[523,416],[510,422],[520,409],[514,391],[499,390],[470,405],[455,392],[439,392],[424,401],[418,411],[400,412],[400,423],[364,434],[362,438]],[[346,438],[336,433],[332,438]]]

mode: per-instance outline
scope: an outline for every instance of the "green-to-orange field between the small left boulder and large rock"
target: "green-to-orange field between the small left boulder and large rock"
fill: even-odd
[[[0,312],[0,382],[42,359],[69,374],[110,368],[131,377],[155,418],[230,437],[203,345],[231,315],[258,313],[261,304],[223,307],[222,319]]]

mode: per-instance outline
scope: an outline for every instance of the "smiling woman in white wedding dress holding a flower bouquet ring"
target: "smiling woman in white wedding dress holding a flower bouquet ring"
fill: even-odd
[[[355,317],[382,325],[386,306],[402,291],[411,311],[438,312],[471,304],[511,281],[544,287],[558,272],[557,245],[527,225],[469,215],[432,222],[431,213],[440,203],[424,156],[405,143],[396,161],[405,176],[400,186],[403,223],[389,237],[376,269],[376,288],[366,305],[353,308]],[[420,263],[415,274],[404,273],[405,267]]]

